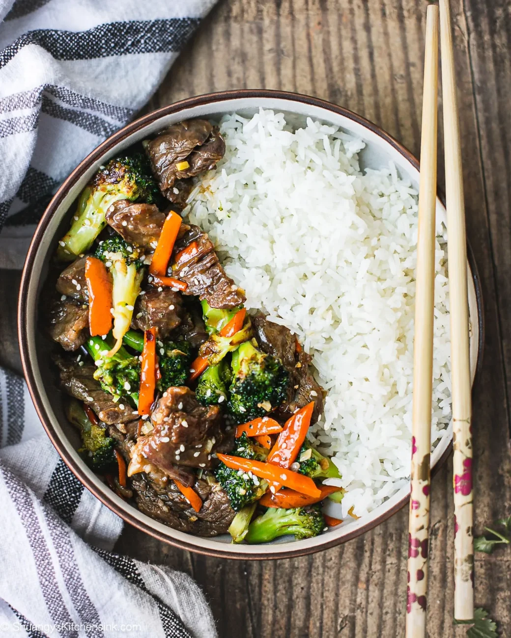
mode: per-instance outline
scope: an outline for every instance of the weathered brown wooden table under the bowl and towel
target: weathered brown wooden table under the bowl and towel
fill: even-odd
[[[220,0],[146,110],[222,89],[308,93],[420,149],[425,2]],[[511,9],[452,0],[468,237],[485,303],[482,374],[474,392],[475,530],[511,514]],[[439,117],[441,129],[441,117]],[[443,145],[439,138],[439,156]],[[439,186],[443,186],[442,161]],[[12,274],[1,278],[0,361],[19,367]],[[19,277],[15,278],[19,281]],[[432,483],[432,638],[454,628],[452,461]],[[174,549],[126,526],[117,551],[192,575],[222,637],[396,638],[404,635],[406,508],[363,537],[293,560],[247,562]],[[476,555],[475,601],[511,635],[511,548]]]

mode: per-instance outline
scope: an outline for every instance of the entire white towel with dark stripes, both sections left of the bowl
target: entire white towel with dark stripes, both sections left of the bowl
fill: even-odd
[[[59,182],[155,91],[215,0],[0,0],[0,267]],[[122,521],[0,369],[0,634],[215,637],[197,584],[112,553]]]

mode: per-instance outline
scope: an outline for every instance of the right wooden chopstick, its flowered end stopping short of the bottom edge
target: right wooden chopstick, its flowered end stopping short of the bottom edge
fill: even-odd
[[[448,0],[440,0],[440,24],[454,443],[454,618],[469,620],[474,616],[474,551],[467,253],[461,144]]]

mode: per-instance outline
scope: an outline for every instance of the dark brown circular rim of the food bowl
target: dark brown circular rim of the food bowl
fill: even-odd
[[[290,103],[302,103],[305,105],[324,108],[330,112],[334,112],[335,114],[342,115],[347,119],[350,119],[357,124],[363,126],[363,128],[367,128],[373,133],[376,133],[378,137],[383,138],[385,142],[392,145],[396,151],[398,151],[416,170],[419,170],[419,161],[418,159],[404,147],[402,144],[397,142],[395,138],[386,133],[382,128],[378,125],[374,124],[361,115],[354,113],[353,111],[335,105],[326,100],[321,100],[319,98],[315,98],[312,96],[308,96],[300,93],[290,93],[287,91],[276,91],[272,89],[236,89],[231,91],[219,91],[217,93],[206,93],[199,96],[194,96],[192,98],[186,98],[185,100],[180,100],[178,102],[174,102],[170,105],[167,105],[162,108],[158,108],[150,113],[143,115],[142,117],[130,122],[123,128],[119,129],[111,135],[111,137],[107,138],[102,144],[98,145],[93,151],[91,151],[86,158],[84,158],[79,165],[66,177],[65,181],[61,184],[59,189],[57,189],[55,195],[49,202],[49,205],[45,209],[45,212],[36,227],[36,230],[33,235],[33,239],[28,249],[26,261],[24,263],[24,268],[22,271],[22,278],[20,284],[20,292],[19,292],[19,301],[18,301],[18,337],[20,343],[20,354],[22,361],[22,368],[24,372],[24,376],[27,382],[27,387],[29,389],[29,393],[31,399],[34,403],[34,407],[40,418],[43,427],[52,441],[52,444],[56,448],[59,456],[66,463],[68,468],[73,472],[73,474],[77,477],[77,479],[89,490],[93,493],[96,498],[98,498],[104,505],[109,507],[115,514],[117,514],[121,519],[126,521],[126,523],[131,524],[135,528],[140,531],[144,531],[149,535],[157,538],[158,540],[165,542],[167,544],[173,545],[174,547],[179,547],[179,549],[185,549],[188,551],[194,551],[199,554],[204,554],[206,556],[215,556],[217,558],[230,558],[234,560],[267,560],[268,558],[277,559],[277,558],[293,558],[296,556],[303,556],[305,554],[312,554],[317,551],[321,551],[323,549],[329,549],[330,547],[334,547],[335,545],[342,544],[347,540],[351,540],[352,538],[358,537],[363,533],[376,528],[379,524],[386,521],[388,518],[393,516],[397,511],[399,511],[402,507],[406,505],[409,501],[409,495],[404,496],[400,501],[397,501],[393,505],[393,507],[389,508],[385,512],[375,519],[368,521],[368,523],[362,524],[354,528],[353,530],[346,533],[341,538],[333,538],[332,540],[327,540],[325,536],[325,542],[319,543],[312,547],[300,547],[300,544],[295,543],[286,543],[282,544],[282,547],[286,547],[286,549],[282,551],[276,551],[270,554],[260,554],[260,553],[252,553],[249,550],[243,553],[231,553],[229,551],[224,551],[222,549],[222,544],[218,543],[218,549],[209,549],[198,547],[194,544],[194,542],[187,542],[185,540],[181,540],[178,538],[172,538],[167,535],[164,535],[160,531],[153,528],[150,524],[145,523],[137,519],[135,516],[131,514],[129,511],[131,508],[123,508],[119,507],[118,504],[109,499],[105,494],[100,491],[95,484],[92,482],[89,477],[84,474],[82,468],[75,462],[72,456],[70,456],[66,446],[63,445],[59,434],[56,433],[52,422],[50,420],[49,414],[47,413],[45,406],[43,405],[42,399],[36,387],[36,382],[34,378],[34,373],[31,367],[31,357],[29,352],[29,336],[28,336],[28,322],[27,322],[27,288],[29,284],[29,280],[31,279],[34,260],[36,258],[36,254],[38,253],[38,247],[40,246],[40,242],[42,240],[43,235],[49,225],[49,221],[56,212],[57,208],[61,204],[63,198],[65,198],[68,190],[72,186],[72,184],[77,181],[81,177],[81,175],[90,168],[97,159],[103,156],[106,152],[108,152],[114,145],[121,142],[128,135],[132,135],[137,131],[141,130],[148,124],[160,119],[160,117],[164,117],[165,115],[174,114],[179,112],[180,110],[198,106],[205,106],[210,103],[215,103],[218,101],[229,101],[229,100],[238,100],[240,98],[251,98],[254,100],[261,98],[273,98],[278,100],[289,101]],[[442,196],[440,192],[438,192],[438,198],[441,203],[445,207],[445,198]],[[475,369],[475,377],[473,381],[473,385],[477,383],[478,376],[480,374],[481,362],[482,362],[482,351],[484,344],[484,315],[483,315],[483,304],[482,304],[482,293],[480,286],[480,278],[477,272],[477,266],[474,260],[473,252],[468,244],[468,262],[471,268],[471,274],[473,278],[473,283],[475,286],[475,294],[476,294],[476,305],[477,305],[477,323],[478,323],[478,355],[477,355],[477,364]],[[440,468],[440,466],[445,463],[447,457],[449,456],[452,450],[452,441],[450,441],[448,447],[446,447],[442,456],[438,459],[438,462],[432,469],[432,474],[436,473],[436,471]],[[190,535],[190,538],[195,538]],[[293,548],[294,546],[294,548]],[[247,548],[250,545],[247,545]]]

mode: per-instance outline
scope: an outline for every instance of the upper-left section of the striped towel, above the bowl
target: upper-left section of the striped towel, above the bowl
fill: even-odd
[[[0,267],[60,182],[155,92],[216,0],[0,0]]]

